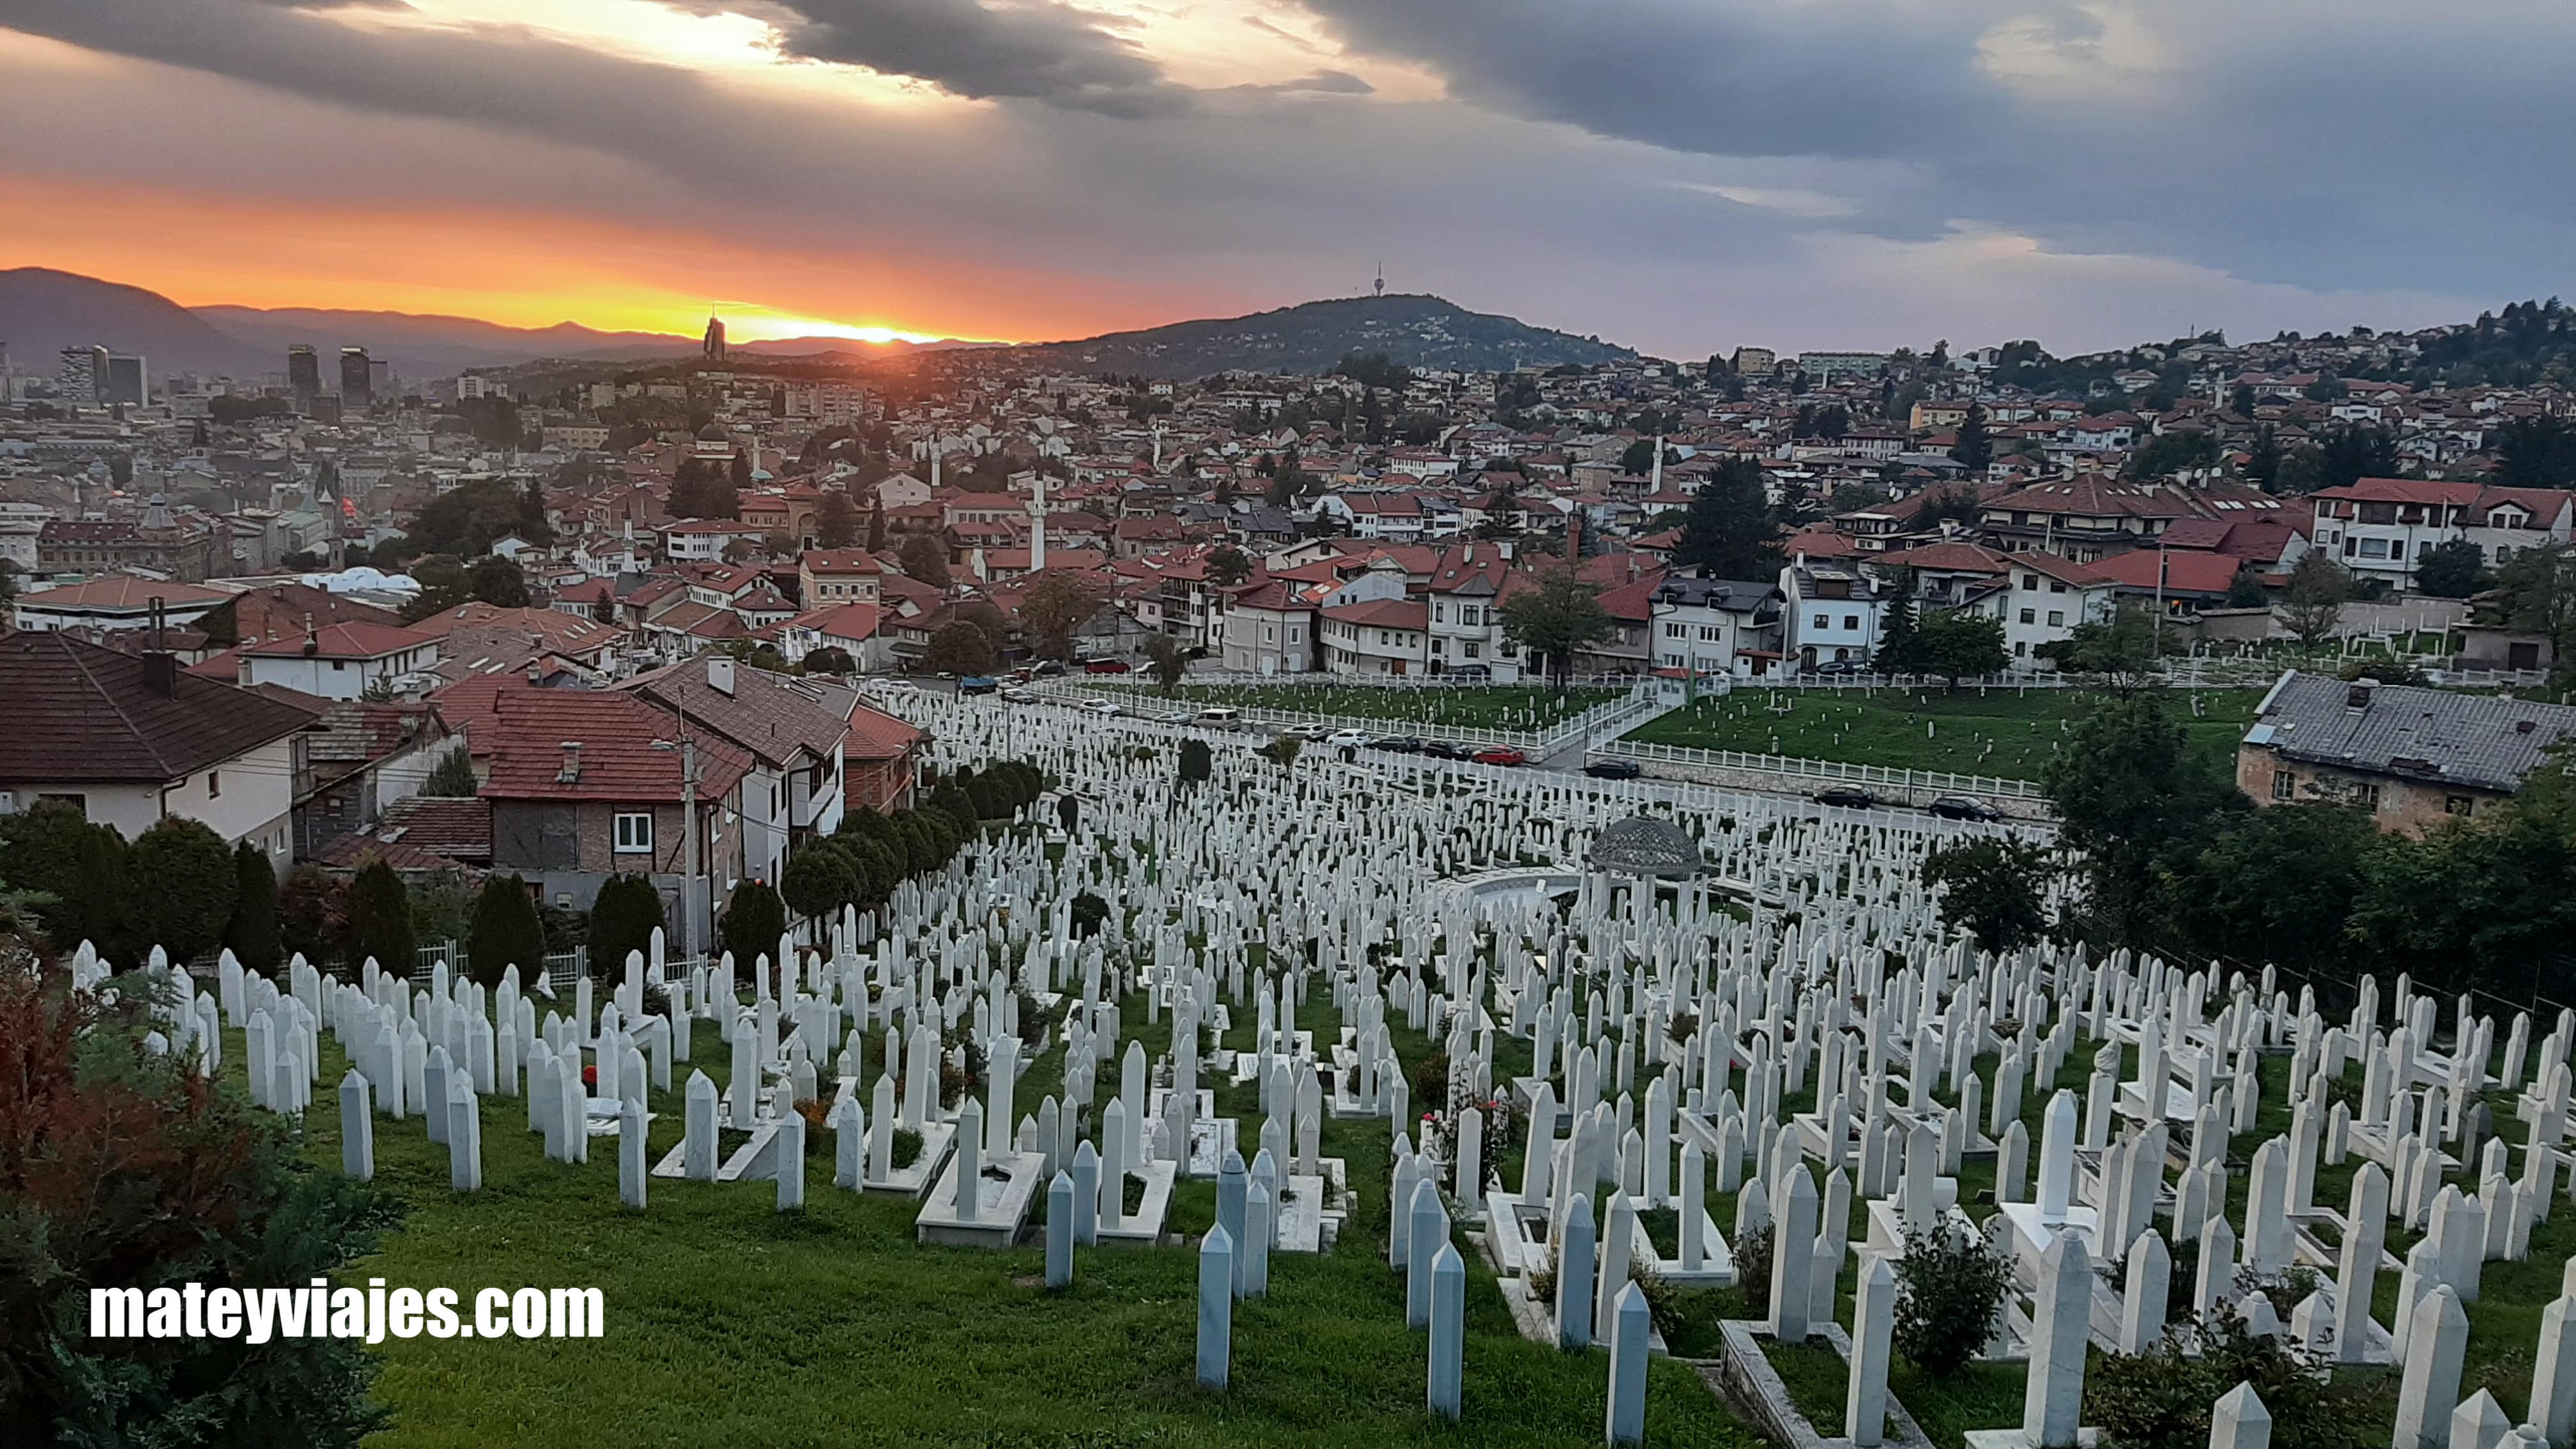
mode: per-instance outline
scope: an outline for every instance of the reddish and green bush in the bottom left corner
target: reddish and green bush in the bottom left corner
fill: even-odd
[[[157,1052],[152,998],[0,972],[0,1423],[10,1444],[355,1449],[389,1413],[361,1338],[95,1338],[93,1289],[304,1289],[376,1250],[402,1207],[301,1160],[301,1137]],[[366,1320],[366,1289],[330,1292]]]

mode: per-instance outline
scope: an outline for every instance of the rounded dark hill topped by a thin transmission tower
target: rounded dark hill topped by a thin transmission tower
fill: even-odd
[[[1015,358],[1072,371],[1195,379],[1216,371],[1324,371],[1350,353],[1386,353],[1404,366],[1504,371],[1605,364],[1636,351],[1600,338],[1468,312],[1440,297],[1340,297],[1249,317],[1170,322],[1079,343],[1012,348]]]

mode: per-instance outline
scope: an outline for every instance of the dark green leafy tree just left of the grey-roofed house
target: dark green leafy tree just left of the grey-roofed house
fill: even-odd
[[[2058,812],[2058,846],[2079,861],[2087,910],[2125,941],[2148,938],[2156,920],[2154,861],[2251,810],[2233,781],[2190,758],[2161,691],[2115,694],[2084,714],[2040,789]]]

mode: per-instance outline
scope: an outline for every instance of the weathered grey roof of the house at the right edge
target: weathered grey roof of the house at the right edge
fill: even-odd
[[[2568,737],[2576,709],[2563,704],[2393,683],[2362,691],[2311,673],[2285,673],[2246,730],[2249,745],[2290,761],[2499,792],[2522,784]]]

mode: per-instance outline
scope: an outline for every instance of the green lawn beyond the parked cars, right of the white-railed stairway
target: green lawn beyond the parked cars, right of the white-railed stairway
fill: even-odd
[[[1631,740],[1919,771],[2038,779],[2102,696],[2084,688],[1739,688],[1633,730]],[[2192,755],[2233,773],[2259,688],[2177,688]],[[2195,714],[2197,709],[2197,714]]]

